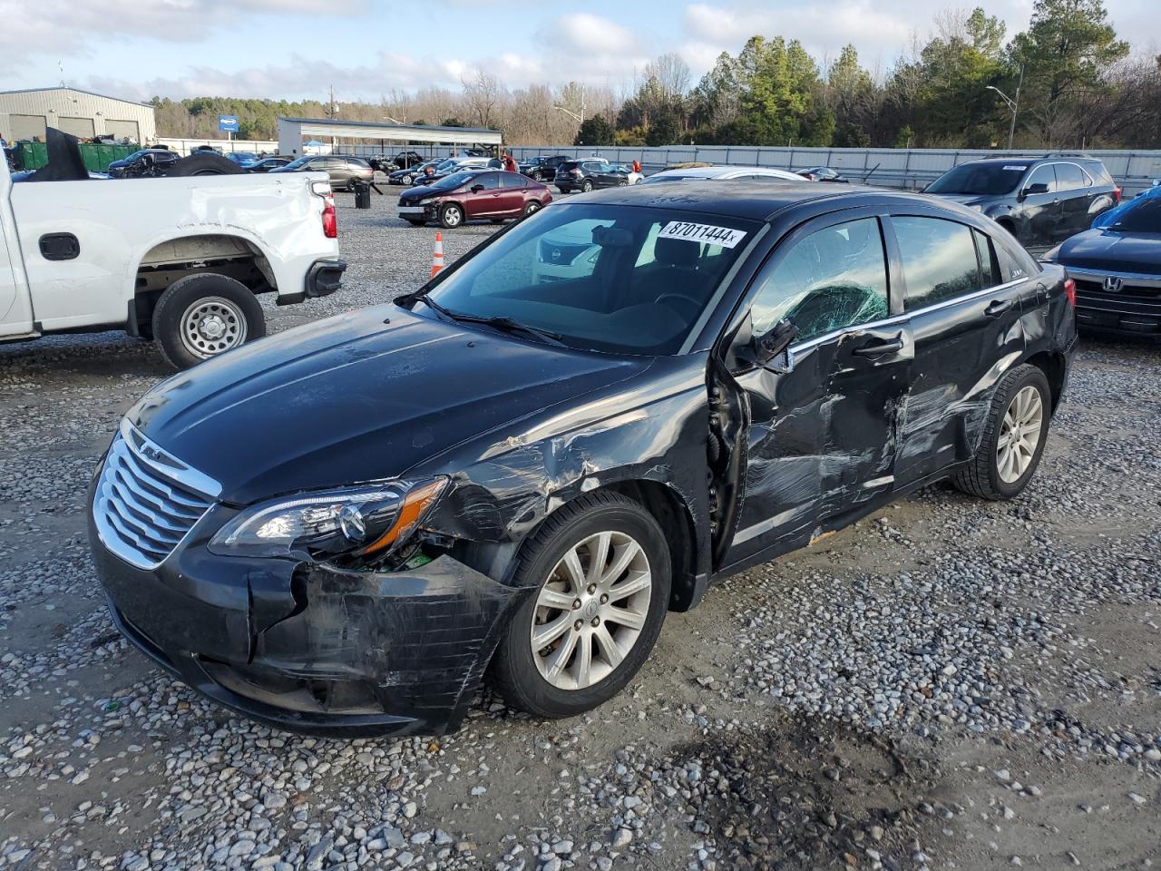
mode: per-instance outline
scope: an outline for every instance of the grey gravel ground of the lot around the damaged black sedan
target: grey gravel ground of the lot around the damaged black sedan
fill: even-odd
[[[345,287],[273,329],[425,279],[433,229],[338,199]],[[930,488],[670,616],[592,715],[485,692],[435,740],[272,732],[120,640],[84,494],[166,374],[117,333],[0,346],[0,868],[1161,865],[1159,348],[1086,344],[1022,498]]]

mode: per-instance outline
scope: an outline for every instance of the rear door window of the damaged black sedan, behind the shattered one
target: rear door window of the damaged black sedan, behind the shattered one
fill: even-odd
[[[907,281],[904,311],[981,288],[971,228],[926,217],[894,217],[890,223]]]

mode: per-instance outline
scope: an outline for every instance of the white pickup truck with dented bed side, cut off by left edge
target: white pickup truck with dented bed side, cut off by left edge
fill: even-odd
[[[257,294],[338,289],[325,173],[93,179],[62,147],[75,180],[0,161],[0,341],[122,329],[185,368],[266,333]]]

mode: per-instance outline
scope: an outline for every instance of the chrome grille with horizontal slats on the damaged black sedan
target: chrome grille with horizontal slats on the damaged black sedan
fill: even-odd
[[[221,489],[123,422],[96,484],[93,520],[113,553],[153,569],[173,553]]]

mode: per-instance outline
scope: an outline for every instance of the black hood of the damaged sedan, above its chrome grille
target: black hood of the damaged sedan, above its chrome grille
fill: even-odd
[[[129,419],[219,481],[223,501],[250,504],[399,475],[648,365],[388,304],[208,360],[158,384]]]

